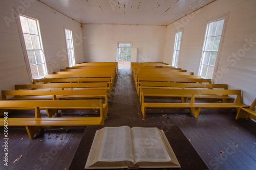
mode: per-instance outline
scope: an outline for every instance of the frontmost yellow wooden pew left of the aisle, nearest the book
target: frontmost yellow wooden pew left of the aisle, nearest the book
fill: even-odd
[[[29,138],[44,126],[89,126],[104,125],[104,116],[101,100],[54,100],[54,101],[0,101],[0,111],[6,109],[35,110],[33,117],[11,118],[7,116],[8,126],[25,126]],[[99,110],[99,117],[41,117],[40,110]],[[0,126],[5,126],[5,118],[0,118]]]

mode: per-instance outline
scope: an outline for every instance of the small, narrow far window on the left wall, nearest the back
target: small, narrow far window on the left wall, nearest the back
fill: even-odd
[[[65,29],[65,34],[66,34],[69,66],[71,67],[71,66],[75,65],[75,54],[74,54],[72,31],[68,30],[68,29]]]

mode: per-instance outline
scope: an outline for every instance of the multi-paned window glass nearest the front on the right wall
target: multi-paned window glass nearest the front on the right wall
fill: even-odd
[[[224,20],[219,19],[207,24],[199,69],[199,75],[202,78],[211,79],[214,74]]]

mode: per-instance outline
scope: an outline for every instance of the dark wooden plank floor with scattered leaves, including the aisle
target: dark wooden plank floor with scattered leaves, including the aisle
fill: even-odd
[[[152,109],[143,120],[130,69],[118,70],[109,102],[105,126],[177,125],[209,169],[256,169],[256,123],[236,120],[230,109],[202,109],[198,119],[186,109]],[[24,127],[9,127],[9,164],[1,151],[0,169],[68,169],[85,128],[46,127],[30,140]],[[3,127],[0,133],[3,143]]]

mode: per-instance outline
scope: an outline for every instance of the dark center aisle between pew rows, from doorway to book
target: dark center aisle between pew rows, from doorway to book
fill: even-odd
[[[146,126],[130,69],[119,69],[109,100],[104,126]]]

